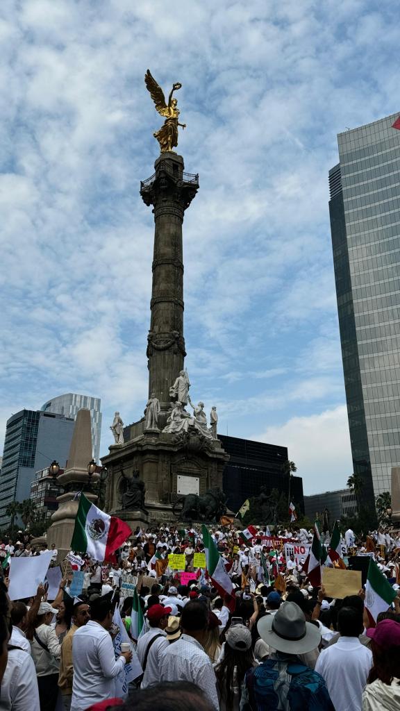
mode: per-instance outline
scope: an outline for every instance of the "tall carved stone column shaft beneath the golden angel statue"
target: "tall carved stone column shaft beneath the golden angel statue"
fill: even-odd
[[[182,223],[199,188],[199,177],[184,173],[184,161],[163,153],[154,176],[140,184],[146,205],[153,205],[154,258],[151,321],[147,336],[149,395],[155,392],[162,409],[169,405],[169,387],[184,368],[184,265]]]

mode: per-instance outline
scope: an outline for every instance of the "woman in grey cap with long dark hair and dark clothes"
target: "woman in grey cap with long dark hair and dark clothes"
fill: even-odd
[[[215,668],[221,711],[239,710],[243,679],[246,671],[256,664],[251,631],[243,624],[231,626],[226,631],[223,656]]]

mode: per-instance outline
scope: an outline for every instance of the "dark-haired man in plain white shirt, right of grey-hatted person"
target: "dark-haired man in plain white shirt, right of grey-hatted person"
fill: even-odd
[[[322,650],[315,671],[325,679],[336,711],[362,711],[362,692],[372,664],[372,653],[359,641],[362,613],[342,607],[337,617],[340,638]]]

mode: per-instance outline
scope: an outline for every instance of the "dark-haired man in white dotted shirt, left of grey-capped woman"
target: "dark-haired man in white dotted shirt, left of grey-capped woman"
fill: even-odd
[[[203,648],[209,611],[202,602],[188,602],[181,614],[181,637],[165,651],[161,662],[162,681],[191,681],[206,694],[215,711],[219,711],[216,676]]]

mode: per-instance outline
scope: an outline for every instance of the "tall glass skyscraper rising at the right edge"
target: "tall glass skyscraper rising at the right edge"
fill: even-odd
[[[338,135],[330,222],[347,413],[362,503],[400,465],[399,114]]]

